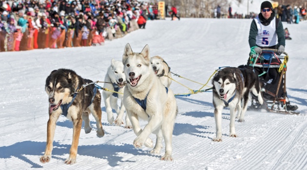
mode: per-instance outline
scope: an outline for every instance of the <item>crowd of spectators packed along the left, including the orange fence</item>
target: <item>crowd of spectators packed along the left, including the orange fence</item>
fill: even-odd
[[[157,17],[137,0],[0,0],[0,51],[103,45]]]

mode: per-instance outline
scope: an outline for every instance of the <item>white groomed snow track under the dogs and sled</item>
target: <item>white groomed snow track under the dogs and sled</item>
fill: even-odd
[[[73,69],[93,81],[103,81],[111,59],[121,60],[130,43],[140,52],[148,44],[151,56],[162,56],[174,73],[206,83],[218,67],[246,64],[249,54],[250,19],[182,18],[180,21],[148,21],[145,30],[107,41],[103,47],[47,49],[0,53],[0,169],[103,169],[103,170],[302,170],[307,166],[307,22],[284,24],[292,40],[287,90],[300,115],[266,111],[246,113],[245,122],[235,122],[238,137],[229,136],[230,110],[222,114],[222,142],[213,142],[215,122],[211,92],[176,97],[179,114],[173,131],[174,161],[159,160],[150,148],[135,149],[133,130],[107,123],[102,102],[105,136],[96,136],[90,116],[90,134],[81,130],[77,163],[66,165],[72,143],[72,122],[61,116],[57,122],[52,159],[40,163],[46,146],[48,96],[44,90],[50,72]],[[192,89],[202,85],[173,76]],[[188,89],[173,82],[174,93]],[[141,121],[144,127],[146,122]],[[82,126],[83,129],[84,125]],[[155,136],[150,136],[155,141]],[[164,142],[163,142],[164,145]]]

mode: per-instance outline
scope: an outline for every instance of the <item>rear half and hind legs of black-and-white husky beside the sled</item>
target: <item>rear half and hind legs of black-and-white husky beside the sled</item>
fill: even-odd
[[[244,79],[244,89],[243,89],[243,96],[241,102],[238,104],[238,116],[239,122],[244,121],[245,112],[248,108],[248,102],[251,99],[251,93],[258,97],[258,102],[263,104],[263,98],[261,95],[261,85],[259,82],[258,75],[253,71],[251,66],[241,65],[238,67],[243,75]],[[241,104],[242,106],[241,106]]]

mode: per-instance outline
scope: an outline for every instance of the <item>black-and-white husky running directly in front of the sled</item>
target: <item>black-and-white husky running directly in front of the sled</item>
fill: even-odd
[[[212,85],[216,126],[216,137],[213,138],[213,141],[222,141],[221,121],[224,107],[230,108],[230,136],[237,137],[234,127],[236,111],[238,111],[239,121],[244,121],[249,92],[251,91],[255,96],[258,96],[259,102],[263,103],[259,78],[249,68],[224,68],[214,75]],[[243,109],[241,103],[243,103]]]

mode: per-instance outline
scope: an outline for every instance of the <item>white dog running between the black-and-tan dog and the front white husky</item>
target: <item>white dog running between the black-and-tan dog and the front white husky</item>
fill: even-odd
[[[108,72],[104,79],[105,82],[111,82],[112,84],[105,83],[104,88],[108,88],[112,91],[119,93],[124,93],[124,86],[126,84],[126,75],[124,73],[124,65],[122,61],[111,60],[111,66],[108,68]],[[117,118],[115,119],[115,125],[121,126],[124,124],[123,116],[125,112],[125,106],[123,104],[123,94],[114,93],[110,91],[103,91],[102,96],[106,106],[107,119],[110,124],[113,124],[114,117],[112,109],[117,113]],[[117,105],[117,100],[121,101],[120,108]],[[132,129],[131,122],[128,115],[125,118],[126,125],[125,128]]]

